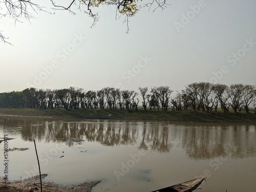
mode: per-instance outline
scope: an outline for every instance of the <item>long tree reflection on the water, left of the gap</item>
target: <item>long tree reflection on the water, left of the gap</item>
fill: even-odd
[[[33,122],[34,123],[34,122]],[[42,122],[41,122],[42,123]],[[105,146],[115,145],[133,145],[140,140],[139,149],[167,153],[170,150],[168,142],[168,128],[159,128],[154,126],[148,129],[144,126],[141,134],[137,123],[129,122],[63,122],[53,121],[44,122],[41,125],[33,127],[26,125],[22,131],[22,137],[25,140],[36,138],[38,141],[61,142],[71,138],[84,139],[90,142],[98,142]],[[141,138],[139,137],[141,135]],[[66,142],[69,146],[79,144],[79,142]]]

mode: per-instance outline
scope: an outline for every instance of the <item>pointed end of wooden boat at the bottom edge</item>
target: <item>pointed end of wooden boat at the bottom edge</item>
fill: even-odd
[[[191,192],[191,191],[195,190],[205,179],[206,179],[206,177],[200,177],[197,179],[193,179],[190,181],[186,181],[186,182],[172,185],[169,187],[165,187],[162,189],[154,190],[152,192],[177,192],[177,191]]]

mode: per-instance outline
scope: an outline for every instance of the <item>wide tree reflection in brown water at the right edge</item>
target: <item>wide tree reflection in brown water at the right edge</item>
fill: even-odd
[[[217,157],[244,158],[255,154],[255,134],[249,133],[249,125],[188,127],[183,129],[182,147],[193,159]],[[255,133],[255,132],[254,132]]]

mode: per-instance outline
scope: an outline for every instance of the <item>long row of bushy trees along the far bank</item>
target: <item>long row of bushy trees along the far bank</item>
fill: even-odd
[[[82,88],[35,89],[0,93],[1,108],[64,108],[76,109],[126,109],[138,110],[139,96],[143,109],[176,111],[217,111],[249,113],[253,106],[256,113],[256,87],[248,84],[213,84],[194,82],[172,96],[169,86],[138,88],[138,92],[117,88],[85,91]]]

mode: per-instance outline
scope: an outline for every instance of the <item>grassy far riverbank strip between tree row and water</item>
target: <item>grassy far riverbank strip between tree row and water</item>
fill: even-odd
[[[144,111],[110,110],[110,109],[24,109],[1,108],[0,115],[44,117],[44,118],[81,118],[81,119],[118,119],[118,120],[161,120],[161,121],[195,121],[195,122],[256,122],[256,114],[222,113],[220,111],[205,113],[202,111]]]

